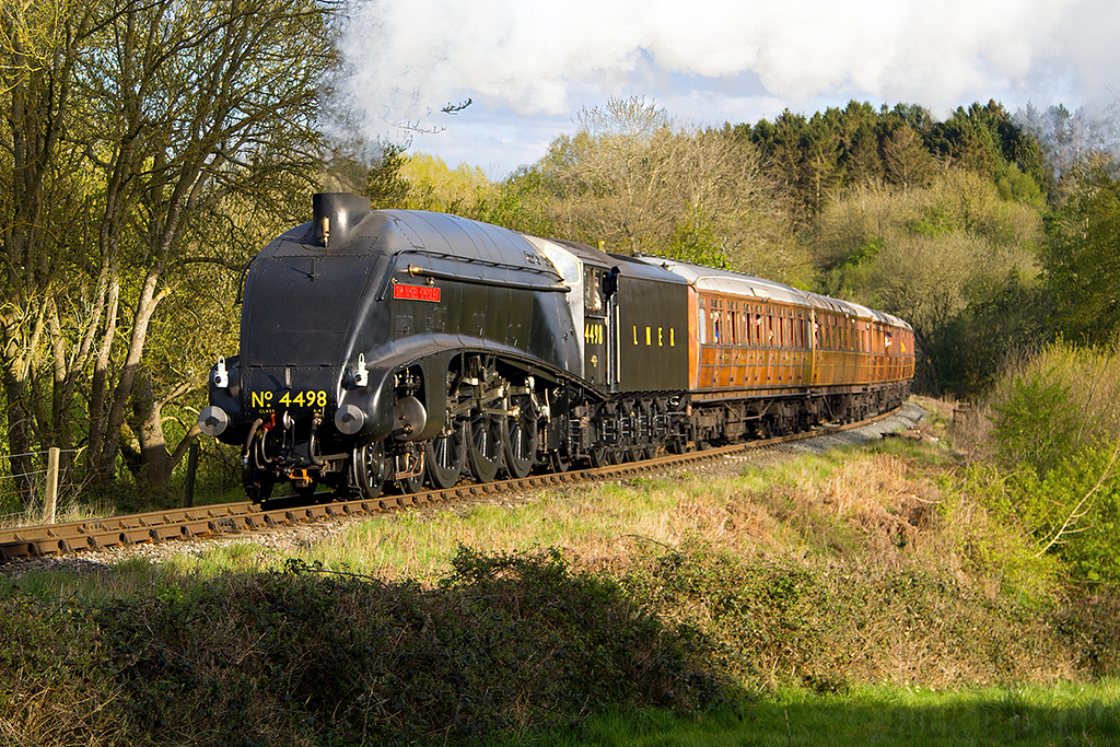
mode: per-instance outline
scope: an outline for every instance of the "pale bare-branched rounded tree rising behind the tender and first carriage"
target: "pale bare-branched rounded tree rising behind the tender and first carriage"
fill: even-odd
[[[753,146],[678,124],[641,97],[584,110],[579,123],[542,165],[568,235],[610,251],[752,269],[773,256],[762,246],[792,245]]]

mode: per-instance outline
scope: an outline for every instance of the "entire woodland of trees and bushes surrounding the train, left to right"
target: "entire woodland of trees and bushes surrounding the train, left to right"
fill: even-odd
[[[1113,119],[992,101],[935,121],[853,101],[712,127],[633,97],[580,112],[575,134],[495,179],[339,137],[346,112],[324,99],[343,74],[335,12],[0,10],[3,513],[36,508],[49,447],[73,505],[177,499],[206,371],[237,347],[242,269],[306,220],[311,193],[349,190],[907,319],[916,391],[988,413],[989,463],[1046,552],[1117,577],[1101,552],[1120,501]],[[236,455],[200,446],[199,492],[235,488]]]

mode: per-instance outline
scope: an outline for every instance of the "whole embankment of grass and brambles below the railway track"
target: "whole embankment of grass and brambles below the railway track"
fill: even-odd
[[[0,700],[116,672],[71,721],[181,744],[205,712],[236,744],[1120,745],[1120,598],[1065,589],[941,436],[28,573],[16,629],[65,648],[64,610],[96,656]]]

